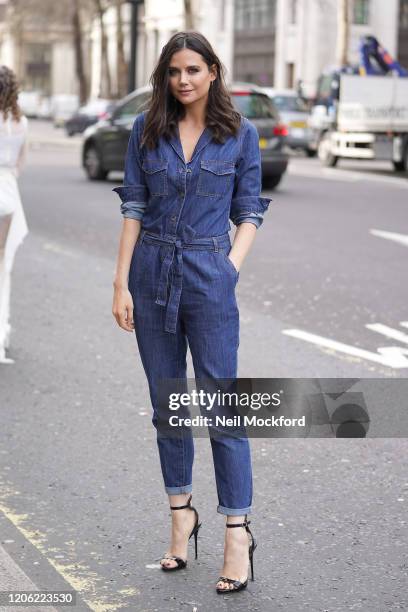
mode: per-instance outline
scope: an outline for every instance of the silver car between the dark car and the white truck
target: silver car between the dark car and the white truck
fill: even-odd
[[[279,110],[282,121],[288,126],[287,145],[292,149],[302,149],[309,157],[316,155],[313,148],[313,134],[309,127],[309,109],[293,89],[273,89],[264,87]]]

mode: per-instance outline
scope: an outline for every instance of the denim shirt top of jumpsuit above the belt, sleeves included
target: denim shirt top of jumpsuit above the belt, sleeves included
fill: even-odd
[[[144,120],[141,113],[133,124],[124,185],[113,190],[124,217],[143,219],[149,231],[174,234],[177,227],[197,237],[229,231],[228,219],[235,225],[246,220],[261,225],[271,199],[259,196],[259,137],[248,119],[242,117],[238,136],[224,144],[215,143],[205,128],[189,163],[178,134],[170,141],[160,138],[154,151],[140,148]]]

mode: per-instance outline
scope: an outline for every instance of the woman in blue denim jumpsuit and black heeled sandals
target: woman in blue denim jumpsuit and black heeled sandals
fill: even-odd
[[[149,110],[134,123],[125,162],[124,224],[112,312],[136,331],[157,428],[159,382],[186,377],[187,342],[197,378],[237,376],[239,313],[235,285],[269,200],[260,198],[259,139],[234,109],[224,70],[209,42],[176,33],[152,74]],[[238,229],[234,243],[231,219]],[[211,437],[211,432],[210,432]],[[172,513],[162,569],[186,567],[198,513],[191,506],[191,435],[157,435]],[[247,521],[252,473],[246,438],[211,437],[217,511],[226,515],[224,565],[217,592],[247,586],[256,543]],[[193,512],[191,512],[193,510]],[[248,535],[249,534],[249,538]]]

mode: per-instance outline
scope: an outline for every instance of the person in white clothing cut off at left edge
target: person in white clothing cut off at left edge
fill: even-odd
[[[10,344],[10,280],[16,250],[27,234],[17,176],[26,149],[27,119],[17,103],[15,74],[0,66],[0,363]]]

